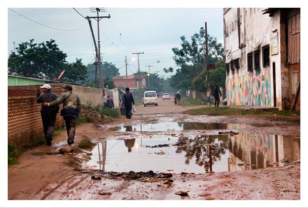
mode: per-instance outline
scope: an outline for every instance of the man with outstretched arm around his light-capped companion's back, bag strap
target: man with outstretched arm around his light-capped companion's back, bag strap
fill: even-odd
[[[63,87],[64,93],[60,95],[56,100],[52,102],[44,102],[44,106],[56,106],[63,103],[63,109],[61,110],[61,116],[63,116],[66,124],[67,131],[67,143],[73,144],[75,138],[76,122],[81,110],[81,101],[76,93],[73,93],[72,86],[66,85]]]

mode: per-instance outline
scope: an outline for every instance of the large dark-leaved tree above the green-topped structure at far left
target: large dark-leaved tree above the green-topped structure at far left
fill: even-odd
[[[8,71],[36,78],[54,78],[63,71],[66,57],[55,40],[35,44],[34,39],[30,39],[29,43],[18,44],[17,53],[11,51]]]

